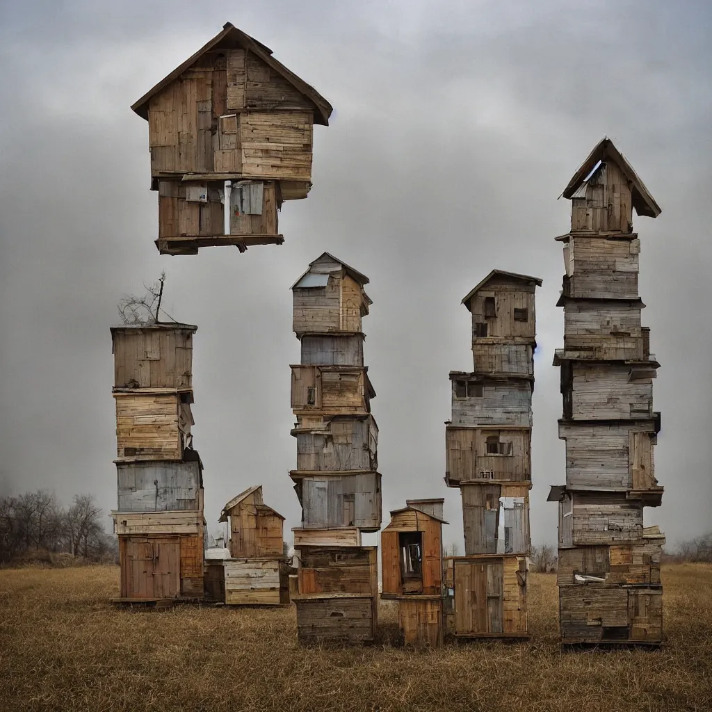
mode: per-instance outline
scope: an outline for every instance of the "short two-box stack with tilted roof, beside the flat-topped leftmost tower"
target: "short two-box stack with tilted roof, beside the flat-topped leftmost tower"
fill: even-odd
[[[220,513],[229,523],[230,558],[216,560],[216,576],[228,605],[289,603],[289,573],[284,541],[284,517],[262,499],[262,486],[232,498]]]

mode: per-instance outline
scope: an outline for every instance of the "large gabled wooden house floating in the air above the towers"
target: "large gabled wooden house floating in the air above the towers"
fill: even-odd
[[[161,253],[281,244],[278,210],[307,197],[313,125],[332,108],[271,49],[226,23],[132,110],[148,122]]]

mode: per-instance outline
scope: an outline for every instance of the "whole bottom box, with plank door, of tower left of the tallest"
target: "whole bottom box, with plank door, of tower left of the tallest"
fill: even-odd
[[[455,557],[455,635],[524,637],[527,633],[525,557]]]

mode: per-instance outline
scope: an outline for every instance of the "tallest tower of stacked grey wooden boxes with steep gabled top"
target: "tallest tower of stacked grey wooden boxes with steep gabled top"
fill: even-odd
[[[566,484],[559,502],[560,628],[564,643],[646,643],[662,639],[657,527],[643,508],[659,506],[653,468],[660,414],[653,411],[645,306],[638,295],[640,242],[632,209],[660,208],[627,160],[602,140],[567,185],[571,231],[564,248],[561,369]]]

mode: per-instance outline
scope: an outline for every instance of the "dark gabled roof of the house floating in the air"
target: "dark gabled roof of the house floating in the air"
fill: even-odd
[[[167,85],[169,85],[174,79],[177,79],[180,75],[182,75],[182,73],[197,62],[199,58],[204,55],[204,53],[219,47],[221,43],[227,44],[229,41],[236,41],[241,47],[256,54],[266,65],[275,70],[276,73],[282,75],[283,78],[285,78],[298,92],[303,94],[314,104],[316,108],[314,122],[324,126],[329,125],[329,117],[333,111],[330,103],[328,103],[328,101],[323,98],[323,96],[320,95],[320,93],[318,93],[313,86],[307,84],[303,79],[300,79],[297,75],[295,75],[295,73],[288,70],[288,68],[286,68],[286,66],[284,66],[281,62],[278,62],[275,58],[273,58],[272,50],[270,48],[239,30],[230,22],[226,22],[221,32],[217,33],[214,38],[202,46],[192,57],[184,61],[182,65],[175,68],[169,75],[167,75],[167,77],[160,80],[154,88],[145,93],[135,104],[131,106],[132,110],[134,110],[139,116],[148,119],[148,103],[153,96],[166,88]]]

